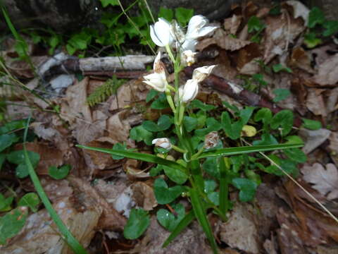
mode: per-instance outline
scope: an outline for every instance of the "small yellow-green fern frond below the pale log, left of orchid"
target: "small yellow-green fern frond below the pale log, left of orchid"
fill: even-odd
[[[106,80],[104,85],[101,85],[99,87],[96,87],[94,92],[92,92],[87,97],[87,103],[89,104],[89,107],[93,107],[94,105],[104,102],[108,97],[111,95],[116,95],[118,92],[118,87],[123,85],[126,80],[124,79],[118,79],[115,75],[113,75],[112,78],[109,78]]]

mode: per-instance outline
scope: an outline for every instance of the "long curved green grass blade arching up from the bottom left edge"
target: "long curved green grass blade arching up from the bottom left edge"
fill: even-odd
[[[77,241],[77,239],[73,236],[73,234],[68,230],[67,226],[63,224],[63,221],[58,216],[56,211],[54,210],[53,206],[51,205],[51,202],[49,201],[46,193],[44,192],[44,188],[42,188],[42,185],[39,181],[39,178],[37,177],[37,174],[35,173],[35,170],[32,167],[32,163],[30,162],[30,157],[28,157],[27,149],[26,149],[26,138],[27,138],[27,132],[28,132],[28,125],[30,123],[30,118],[27,121],[27,125],[25,128],[25,135],[24,135],[24,143],[23,143],[23,150],[25,154],[25,163],[27,164],[28,172],[30,174],[30,179],[32,179],[32,182],[34,184],[35,189],[37,190],[37,194],[39,195],[40,199],[44,203],[44,207],[46,207],[46,210],[51,215],[51,219],[55,222],[56,226],[58,226],[58,229],[61,232],[61,236],[63,237],[63,240],[72,248],[74,253],[76,254],[87,254],[87,250],[83,248],[83,246]]]

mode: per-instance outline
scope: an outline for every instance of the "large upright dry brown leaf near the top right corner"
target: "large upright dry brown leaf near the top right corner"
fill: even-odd
[[[289,20],[289,22],[288,22]],[[284,11],[280,16],[268,16],[265,19],[264,62],[270,62],[275,56],[287,52],[287,46],[294,42],[305,26],[303,20],[294,19]]]

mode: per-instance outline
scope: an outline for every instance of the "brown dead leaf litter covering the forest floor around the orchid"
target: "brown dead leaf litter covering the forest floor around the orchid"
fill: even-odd
[[[299,135],[305,142],[303,152],[311,158],[311,164],[301,166],[298,180],[337,216],[338,60],[337,54],[330,53],[337,49],[337,45],[327,43],[308,49],[303,44],[308,8],[300,1],[287,1],[280,7],[277,15],[269,13],[270,3],[259,6],[249,1],[235,7],[230,17],[223,20],[224,29],[218,28],[213,37],[205,38],[197,45],[201,54],[213,52],[212,59],[200,61],[217,63],[215,74],[243,90],[248,87],[239,75],[250,78],[264,73],[263,80],[268,86],[260,87],[259,95],[272,101],[274,89],[291,90],[291,95],[278,106],[295,110],[299,117],[315,119],[323,124],[324,127],[318,130],[300,128]],[[251,16],[257,16],[265,24],[256,38],[249,32]],[[32,54],[32,50],[29,53]],[[13,49],[8,49],[5,56],[8,69],[15,77],[34,77],[27,64],[14,61]],[[39,66],[39,73],[46,75],[65,59],[68,56],[61,53],[53,58],[35,57],[33,62]],[[276,64],[291,68],[292,73],[272,71],[271,66]],[[56,83],[57,78],[67,85]],[[158,204],[153,191],[154,178],[149,174],[153,165],[113,159],[101,152],[74,147],[77,143],[104,148],[112,148],[116,143],[125,143],[129,149],[139,147],[130,139],[130,129],[144,119],[156,120],[159,117],[157,111],[147,109],[148,88],[141,79],[127,81],[118,88],[116,95],[89,107],[87,97],[95,87],[104,83],[100,78],[87,75],[78,81],[73,80],[73,76],[56,75],[51,85],[53,95],[48,97],[60,106],[60,118],[46,111],[33,111],[35,121],[31,127],[39,140],[27,146],[42,155],[37,174],[56,211],[85,247],[94,246],[92,241],[97,241],[99,232],[106,237],[113,235],[113,244],[120,246],[122,243],[123,246],[127,243],[121,234],[126,219],[132,208],[142,207],[151,214],[150,227],[141,240],[128,242],[128,251],[211,253],[204,234],[195,223],[170,246],[161,248],[169,232],[154,216]],[[27,87],[36,90],[41,85],[35,79],[27,83]],[[208,102],[209,96],[220,101],[226,98],[239,108],[245,106],[237,97],[228,97],[216,90],[217,87],[210,85],[202,87],[199,98],[203,102]],[[11,119],[27,117],[32,112],[30,107],[50,109],[42,99],[27,91],[17,92],[8,102],[6,114]],[[149,152],[147,147],[139,148]],[[51,179],[48,168],[63,164],[71,164],[70,176],[58,181]],[[261,253],[263,249],[268,253],[283,254],[337,252],[337,224],[293,183],[274,177],[265,178],[266,185],[259,186],[252,204],[234,202],[233,210],[228,214],[229,220],[213,224],[219,243],[225,247],[222,252]],[[20,188],[34,191],[27,179],[20,180]],[[235,200],[234,191],[231,195]],[[209,219],[213,220],[212,217]],[[105,238],[99,242],[109,243]],[[123,249],[121,246],[119,248]],[[109,248],[113,249],[112,246]],[[20,233],[0,250],[1,253],[69,253],[44,209],[30,214]]]

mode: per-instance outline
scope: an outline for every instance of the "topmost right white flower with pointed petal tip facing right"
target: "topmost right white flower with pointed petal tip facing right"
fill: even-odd
[[[208,19],[201,15],[193,16],[189,20],[189,25],[187,29],[187,34],[185,35],[185,40],[196,40],[199,37],[208,35],[208,33],[213,32],[217,27],[205,26],[208,24]]]

